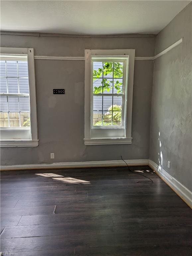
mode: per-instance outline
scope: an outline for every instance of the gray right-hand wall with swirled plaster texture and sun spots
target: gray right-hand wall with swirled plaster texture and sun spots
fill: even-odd
[[[151,160],[157,164],[162,161],[162,167],[190,190],[191,6],[189,4],[156,37],[156,54],[181,37],[183,42],[154,62],[149,150]]]

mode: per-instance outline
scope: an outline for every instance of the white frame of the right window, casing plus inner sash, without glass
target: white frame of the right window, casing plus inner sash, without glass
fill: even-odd
[[[92,58],[125,60],[128,78],[125,84],[125,119],[122,126],[106,127],[92,125]],[[124,50],[85,50],[85,145],[131,144],[133,82],[135,49]],[[98,94],[99,95],[99,94]],[[118,94],[117,94],[118,96]],[[123,115],[123,113],[122,113]]]

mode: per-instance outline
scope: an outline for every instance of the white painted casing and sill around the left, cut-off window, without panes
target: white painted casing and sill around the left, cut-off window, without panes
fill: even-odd
[[[33,48],[11,48],[1,47],[0,54],[20,55],[25,54],[28,57],[28,73],[29,73],[29,95],[30,95],[30,120],[31,120],[31,139],[9,139],[0,140],[0,147],[37,147],[38,140],[38,126],[37,126],[37,103],[36,103],[36,86],[35,86],[35,63],[34,63],[34,49]],[[16,94],[15,94],[16,95]],[[0,127],[1,130],[26,130],[26,127]]]

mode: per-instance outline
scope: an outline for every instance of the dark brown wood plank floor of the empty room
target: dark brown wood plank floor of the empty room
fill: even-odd
[[[191,256],[191,209],[149,167],[131,170],[154,183],[126,167],[3,171],[1,252]]]

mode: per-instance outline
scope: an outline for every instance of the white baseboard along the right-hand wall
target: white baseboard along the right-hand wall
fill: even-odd
[[[158,166],[152,160],[149,160],[149,166],[169,185],[183,201],[192,208],[192,192],[183,186],[178,180],[168,174],[162,167]]]

